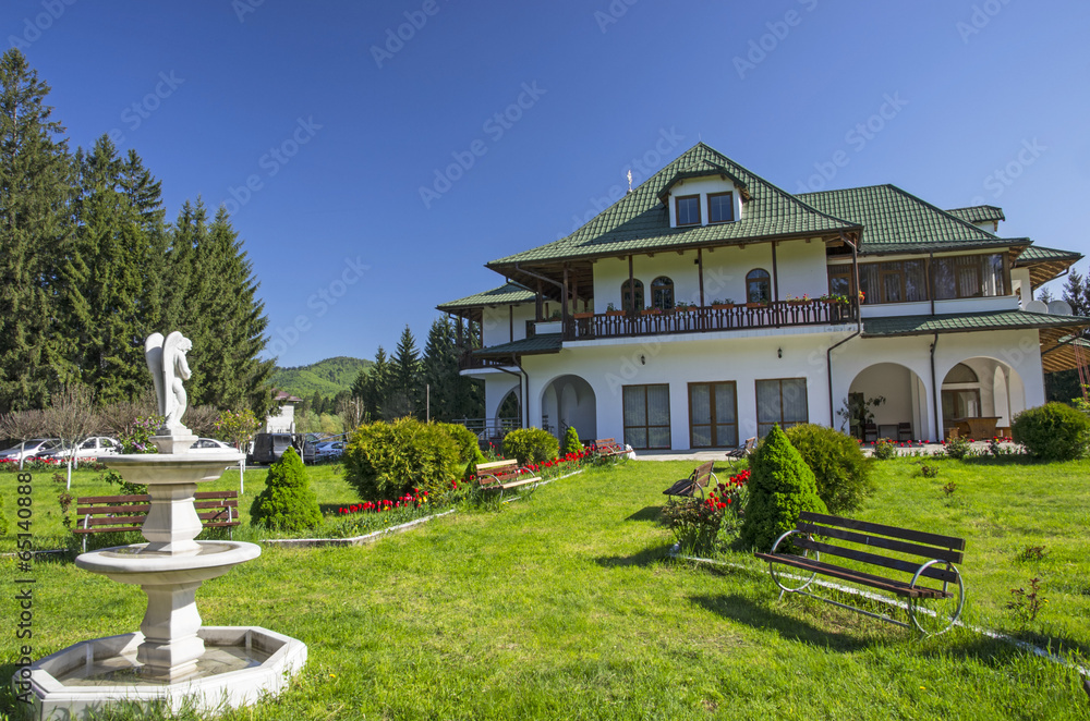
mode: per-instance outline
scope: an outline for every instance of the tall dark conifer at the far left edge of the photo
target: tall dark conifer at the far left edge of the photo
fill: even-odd
[[[41,407],[58,383],[51,301],[71,233],[72,159],[17,49],[0,59],[0,413]]]

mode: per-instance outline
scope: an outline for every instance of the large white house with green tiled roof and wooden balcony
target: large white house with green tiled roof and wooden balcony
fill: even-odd
[[[852,432],[1002,433],[1090,326],[1032,300],[1082,256],[1003,237],[1002,220],[892,185],[791,195],[701,143],[571,235],[488,262],[504,285],[438,308],[469,321],[462,372],[493,424],[729,448],[774,424],[847,430],[849,401],[884,399]]]

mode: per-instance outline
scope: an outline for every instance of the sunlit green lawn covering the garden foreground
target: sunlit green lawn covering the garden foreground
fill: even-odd
[[[1086,656],[1090,463],[929,463],[937,478],[908,459],[876,464],[879,491],[856,515],[967,537],[968,620]],[[223,718],[1090,718],[1074,671],[1009,644],[965,630],[920,639],[810,599],[777,601],[747,553],[726,572],[667,559],[662,489],[691,469],[593,468],[371,546],[264,548],[202,587],[202,616],[287,633],[310,658],[277,701]],[[342,492],[329,473],[319,499]],[[1027,546],[1044,546],[1043,560],[1018,561]],[[0,565],[4,587],[13,573]],[[1022,630],[1005,606],[1031,574],[1050,603]],[[36,657],[140,624],[135,588],[66,558],[39,559],[35,576]],[[0,652],[10,675],[7,631]]]

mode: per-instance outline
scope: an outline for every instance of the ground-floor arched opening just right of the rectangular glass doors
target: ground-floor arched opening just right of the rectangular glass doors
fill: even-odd
[[[837,427],[865,441],[924,440],[929,435],[923,379],[897,363],[875,363],[859,371],[836,412]]]

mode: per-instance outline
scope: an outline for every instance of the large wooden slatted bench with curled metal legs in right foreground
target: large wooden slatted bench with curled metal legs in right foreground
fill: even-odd
[[[802,555],[777,551],[788,537],[791,537],[790,543],[802,549]],[[834,546],[832,541],[843,541],[856,548]],[[821,560],[822,554],[847,559],[851,567],[826,563]],[[961,607],[965,604],[961,574],[954,565],[961,563],[965,555],[962,538],[803,511],[799,514],[798,525],[777,538],[771,552],[754,555],[768,562],[768,572],[780,589],[779,598],[785,592],[802,594],[906,628],[916,626],[924,634],[948,631],[961,615]],[[785,586],[776,572],[777,565],[809,572],[810,577],[795,576],[795,579],[802,582],[801,585]],[[903,577],[889,578],[888,572],[886,575],[870,572],[879,569],[900,572]],[[907,599],[911,625],[807,592],[806,588],[818,575],[876,588]],[[907,576],[911,579],[906,581]],[[944,599],[947,600],[947,607],[955,606],[949,613],[948,623],[942,618],[944,613],[940,613],[941,609],[929,610],[925,606],[921,608],[923,601]],[[937,625],[945,624],[945,627],[931,631],[924,625],[928,618],[921,616],[934,616]]]

